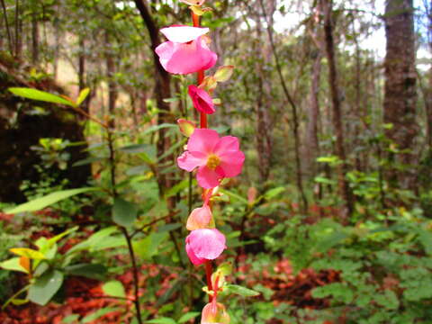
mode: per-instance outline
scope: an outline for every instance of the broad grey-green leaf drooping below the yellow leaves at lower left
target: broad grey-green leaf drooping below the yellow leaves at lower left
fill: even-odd
[[[58,270],[49,271],[31,284],[27,298],[40,306],[46,305],[60,289],[63,279],[63,274]]]

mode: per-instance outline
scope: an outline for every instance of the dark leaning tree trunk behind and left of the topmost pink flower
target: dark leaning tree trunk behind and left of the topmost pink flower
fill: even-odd
[[[153,62],[155,65],[155,96],[157,102],[157,108],[161,111],[157,118],[157,123],[161,124],[164,122],[170,122],[170,107],[169,103],[164,102],[164,99],[171,97],[171,89],[170,89],[170,75],[166,72],[164,67],[161,66],[159,62],[159,58],[155,52],[155,49],[160,44],[159,38],[159,30],[157,28],[157,24],[153,20],[153,17],[148,11],[148,5],[145,0],[134,0],[137,9],[139,10],[139,14],[141,15],[142,20],[146,28],[148,29],[148,35],[151,41],[151,50],[153,53]],[[170,147],[170,140],[166,136],[166,129],[159,130],[157,140],[157,156],[160,157],[164,152]],[[166,157],[163,162],[171,160],[173,157]],[[166,189],[171,186],[171,181],[169,177],[166,175],[157,175],[157,183],[159,186],[160,194],[164,194]]]

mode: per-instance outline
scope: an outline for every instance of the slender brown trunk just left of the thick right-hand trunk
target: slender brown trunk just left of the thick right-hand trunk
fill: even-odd
[[[324,10],[324,33],[326,42],[326,55],[329,62],[329,85],[331,101],[333,106],[333,128],[336,132],[336,154],[342,161],[338,165],[338,189],[339,194],[345,201],[342,209],[342,218],[347,222],[349,215],[353,211],[352,194],[347,183],[347,157],[344,147],[344,129],[342,124],[342,109],[339,97],[338,70],[336,67],[335,42],[333,39],[333,1],[321,0]]]

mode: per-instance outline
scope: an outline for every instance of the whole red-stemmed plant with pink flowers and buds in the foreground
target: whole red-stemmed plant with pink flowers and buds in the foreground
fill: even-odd
[[[207,115],[216,112],[215,105],[219,104],[219,100],[211,95],[219,82],[229,79],[234,67],[219,67],[213,76],[204,76],[204,71],[213,67],[218,58],[209,48],[209,29],[199,26],[200,15],[209,9],[201,7],[202,0],[181,2],[190,5],[193,26],[173,25],[162,29],[167,41],[157,47],[156,53],[162,67],[169,73],[197,73],[197,85],[189,85],[188,94],[200,114],[200,125],[196,127],[193,121],[178,120],[180,131],[189,139],[184,153],[177,158],[177,165],[187,172],[196,170],[203,200],[202,207],[195,208],[187,219],[186,229],[191,232],[185,238],[185,249],[194,266],[205,265],[207,287],[204,291],[209,294],[210,302],[202,310],[201,322],[227,324],[229,314],[225,306],[217,302],[217,296],[228,287],[225,276],[229,275],[231,267],[225,263],[214,273],[211,270],[211,261],[220,257],[227,248],[225,236],[216,229],[211,197],[217,193],[224,178],[241,173],[245,155],[236,137],[220,137],[216,130],[207,128]],[[256,294],[247,291],[249,296]]]

